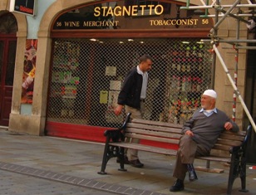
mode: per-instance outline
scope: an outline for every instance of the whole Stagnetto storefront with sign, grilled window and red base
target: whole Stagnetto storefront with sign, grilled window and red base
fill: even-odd
[[[145,119],[183,124],[212,88],[211,18],[168,1],[91,2],[52,23],[48,135],[102,141],[119,127],[114,115],[122,80],[138,58],[153,57]]]

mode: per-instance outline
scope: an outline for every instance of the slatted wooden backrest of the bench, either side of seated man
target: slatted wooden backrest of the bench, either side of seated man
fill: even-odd
[[[126,137],[146,139],[168,144],[179,144],[182,124],[170,124],[145,119],[132,119],[126,126]],[[229,152],[234,146],[243,143],[246,132],[232,133],[224,131],[214,145],[213,150]]]

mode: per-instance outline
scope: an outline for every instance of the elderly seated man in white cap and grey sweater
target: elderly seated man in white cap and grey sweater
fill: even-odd
[[[185,122],[177,152],[173,176],[177,178],[170,192],[184,190],[184,179],[189,172],[190,181],[197,179],[194,171],[194,158],[209,155],[219,134],[224,130],[238,132],[239,127],[221,110],[215,108],[217,94],[214,90],[205,90],[201,97],[201,109],[196,110]]]

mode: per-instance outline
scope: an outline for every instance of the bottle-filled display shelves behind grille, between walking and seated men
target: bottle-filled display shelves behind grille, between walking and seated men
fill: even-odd
[[[201,49],[201,48],[200,48]],[[184,124],[199,108],[204,82],[204,52],[195,49],[173,51],[169,69],[168,121]]]

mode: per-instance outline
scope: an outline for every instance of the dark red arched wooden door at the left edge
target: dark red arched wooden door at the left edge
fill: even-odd
[[[17,20],[0,14],[0,125],[7,126],[12,107],[12,87],[17,46]]]

